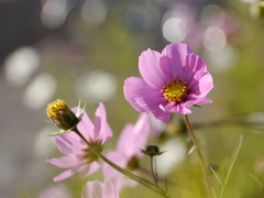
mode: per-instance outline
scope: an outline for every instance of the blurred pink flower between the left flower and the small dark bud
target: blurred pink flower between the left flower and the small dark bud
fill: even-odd
[[[139,160],[143,157],[141,148],[145,148],[145,143],[150,134],[150,120],[147,113],[141,113],[135,125],[127,124],[120,134],[116,151],[107,154],[107,158],[114,162],[122,168],[135,170],[139,167]],[[112,182],[116,189],[129,186],[133,187],[138,183],[123,176],[108,164],[102,165],[105,182]]]

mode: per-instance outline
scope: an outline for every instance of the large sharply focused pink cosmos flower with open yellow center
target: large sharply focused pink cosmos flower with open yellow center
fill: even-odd
[[[162,53],[144,51],[139,69],[143,78],[124,81],[124,97],[136,111],[168,122],[169,112],[188,114],[194,105],[211,103],[205,97],[213,87],[212,77],[206,62],[186,44],[169,44]]]

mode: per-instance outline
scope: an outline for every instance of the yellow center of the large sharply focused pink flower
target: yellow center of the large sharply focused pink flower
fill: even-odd
[[[187,95],[188,81],[183,82],[182,78],[178,80],[174,78],[173,81],[168,81],[166,86],[163,87],[161,92],[168,99],[169,102],[182,101]]]

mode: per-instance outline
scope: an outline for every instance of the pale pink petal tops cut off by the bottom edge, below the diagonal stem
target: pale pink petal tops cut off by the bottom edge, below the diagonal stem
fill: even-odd
[[[81,198],[119,198],[119,194],[112,183],[101,184],[95,180],[86,184]]]

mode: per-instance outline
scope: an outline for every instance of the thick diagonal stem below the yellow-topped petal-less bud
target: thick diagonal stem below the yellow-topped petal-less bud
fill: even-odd
[[[78,129],[76,128],[75,130],[73,130],[76,132],[77,135],[79,135],[79,138],[85,141],[85,143],[88,145],[88,147],[98,156],[100,157],[103,162],[106,162],[108,165],[110,165],[112,168],[117,169],[118,172],[120,172],[121,174],[125,175],[127,177],[131,178],[132,180],[135,180],[136,183],[145,186],[146,188],[160,194],[163,197],[169,198],[169,196],[167,195],[167,193],[165,193],[163,189],[156,187],[154,184],[150,183],[148,180],[145,180],[144,178],[139,177],[138,175],[132,174],[131,172],[128,172],[127,169],[121,168],[120,166],[118,166],[117,164],[114,164],[113,162],[109,161],[107,157],[105,157],[100,152],[97,151],[97,148],[89,143],[86,138],[78,131]]]

